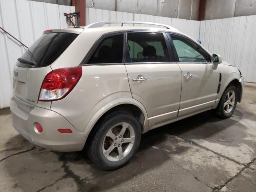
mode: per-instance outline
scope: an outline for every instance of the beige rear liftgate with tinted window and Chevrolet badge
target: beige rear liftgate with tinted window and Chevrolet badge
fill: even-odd
[[[13,88],[18,107],[30,112],[38,105],[50,108],[51,102],[38,102],[38,95],[52,64],[78,36],[74,33],[50,32],[43,34],[18,59],[14,66]]]

